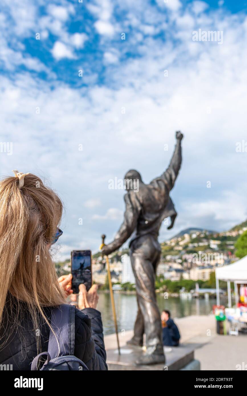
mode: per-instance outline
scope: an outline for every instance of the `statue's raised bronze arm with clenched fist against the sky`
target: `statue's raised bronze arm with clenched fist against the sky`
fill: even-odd
[[[177,131],[176,132],[177,143],[175,145],[175,150],[173,152],[171,162],[168,168],[166,169],[166,171],[162,173],[160,177],[152,181],[152,183],[159,181],[164,182],[169,191],[174,186],[174,183],[177,179],[177,176],[179,174],[179,169],[182,163],[182,147],[181,147],[182,138],[183,138],[182,133],[180,131]]]

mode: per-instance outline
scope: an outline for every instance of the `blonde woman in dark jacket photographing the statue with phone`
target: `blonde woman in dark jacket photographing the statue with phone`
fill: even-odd
[[[71,278],[57,279],[50,247],[61,235],[63,205],[35,175],[14,171],[0,182],[0,364],[30,370],[47,352],[54,307],[72,293]],[[97,287],[80,285],[74,355],[89,370],[107,370]]]

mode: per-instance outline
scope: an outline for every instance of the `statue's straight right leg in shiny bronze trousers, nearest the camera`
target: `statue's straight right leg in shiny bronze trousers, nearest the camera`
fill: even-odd
[[[160,250],[152,236],[139,238],[132,247],[132,267],[135,273],[136,292],[144,320],[147,354],[163,356],[161,319],[155,293],[154,263]]]

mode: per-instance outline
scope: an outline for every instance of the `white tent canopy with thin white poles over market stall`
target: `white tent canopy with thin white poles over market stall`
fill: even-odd
[[[247,256],[238,260],[236,263],[218,267],[215,269],[217,305],[220,305],[219,280],[227,282],[228,307],[232,307],[230,282],[234,282],[235,301],[238,302],[237,284],[247,283]]]

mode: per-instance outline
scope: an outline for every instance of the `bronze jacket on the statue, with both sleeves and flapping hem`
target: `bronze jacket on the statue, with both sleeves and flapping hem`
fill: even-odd
[[[144,184],[139,180],[139,190],[130,190],[125,194],[124,222],[114,241],[107,245],[107,249],[110,251],[119,249],[133,232],[130,243],[147,234],[158,238],[161,224],[168,216],[171,216],[173,225],[177,212],[169,198],[169,192],[175,184],[181,162],[181,141],[177,141],[166,171],[152,180],[150,184]]]

